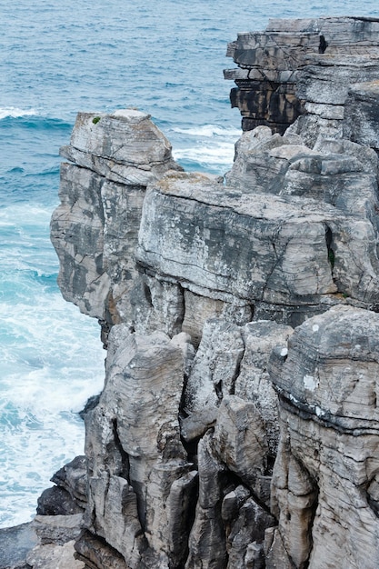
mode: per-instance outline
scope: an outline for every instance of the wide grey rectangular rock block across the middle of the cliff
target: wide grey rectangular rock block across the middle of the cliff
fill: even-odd
[[[297,207],[294,201],[268,195],[255,195],[253,204],[250,196],[220,192],[196,175],[166,176],[145,197],[138,259],[158,275],[217,290],[225,299],[234,295],[279,303],[291,295],[332,293],[324,225],[338,214],[312,202],[308,214],[302,204],[301,219],[296,220]],[[166,214],[158,226],[155,216],[162,209]],[[296,266],[300,248],[306,262]]]

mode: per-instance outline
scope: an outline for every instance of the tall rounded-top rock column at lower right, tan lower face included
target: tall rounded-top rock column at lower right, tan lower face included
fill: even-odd
[[[274,366],[281,442],[272,511],[283,547],[269,568],[286,554],[311,569],[379,563],[378,331],[378,314],[332,308],[296,328]]]

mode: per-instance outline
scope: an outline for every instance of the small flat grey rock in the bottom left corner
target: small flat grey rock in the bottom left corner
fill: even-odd
[[[0,529],[0,569],[26,564],[26,555],[37,543],[31,523]]]

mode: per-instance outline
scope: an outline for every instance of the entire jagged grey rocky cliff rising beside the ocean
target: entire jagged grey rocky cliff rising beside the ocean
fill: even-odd
[[[224,180],[148,115],[78,115],[51,235],[108,350],[85,470],[56,480],[81,566],[379,566],[378,32],[239,35]]]

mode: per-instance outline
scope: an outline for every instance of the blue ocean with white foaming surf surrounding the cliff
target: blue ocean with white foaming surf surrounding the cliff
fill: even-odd
[[[269,17],[344,14],[379,17],[377,0],[1,3],[0,526],[30,520],[83,453],[77,412],[104,381],[98,325],[62,299],[49,241],[76,113],[138,107],[187,170],[223,174],[240,135],[226,44]]]

